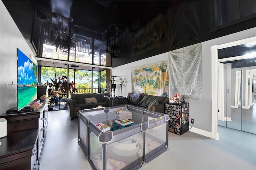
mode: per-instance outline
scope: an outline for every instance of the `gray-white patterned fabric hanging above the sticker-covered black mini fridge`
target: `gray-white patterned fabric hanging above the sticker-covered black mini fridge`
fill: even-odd
[[[202,98],[202,43],[169,52],[170,96],[185,95],[185,99]]]

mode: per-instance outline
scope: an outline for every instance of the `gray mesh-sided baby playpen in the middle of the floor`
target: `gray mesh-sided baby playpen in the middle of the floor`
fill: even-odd
[[[114,126],[116,110],[126,107],[134,124],[104,132],[98,123]],[[166,114],[130,105],[78,111],[78,143],[92,169],[137,170],[146,162],[168,150]]]

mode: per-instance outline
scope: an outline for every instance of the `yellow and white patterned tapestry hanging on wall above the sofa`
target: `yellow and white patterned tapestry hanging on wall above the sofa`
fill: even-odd
[[[132,67],[132,84],[135,93],[168,97],[168,60]]]

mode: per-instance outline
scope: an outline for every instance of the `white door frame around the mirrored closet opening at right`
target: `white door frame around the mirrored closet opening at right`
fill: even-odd
[[[246,59],[248,56],[241,55],[237,57],[230,57],[224,59],[218,59],[218,49],[232,47],[236,45],[241,45],[248,42],[255,42],[256,36],[251,38],[246,38],[243,40],[238,40],[234,42],[224,43],[220,45],[212,45],[212,131],[211,131],[211,138],[218,140],[218,62],[224,61],[233,61],[239,59]]]

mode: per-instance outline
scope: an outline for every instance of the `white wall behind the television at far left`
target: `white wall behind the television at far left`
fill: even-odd
[[[16,107],[17,87],[17,47],[28,57],[32,50],[23,38],[14,20],[0,2],[0,114]]]

